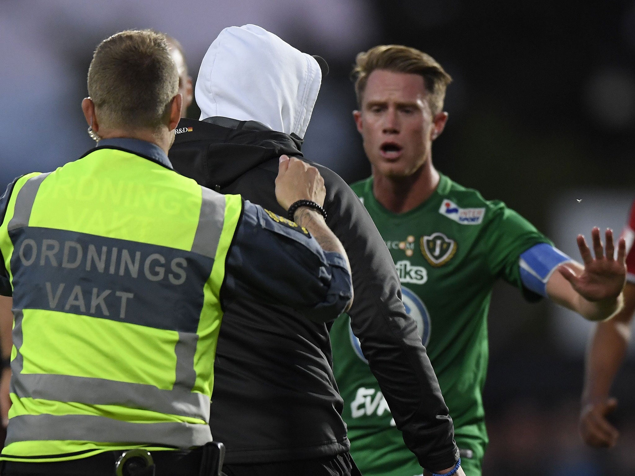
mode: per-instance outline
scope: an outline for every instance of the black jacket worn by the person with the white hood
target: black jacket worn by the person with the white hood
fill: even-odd
[[[278,157],[302,157],[302,140],[225,117],[182,119],[177,132],[169,157],[178,172],[286,215],[274,193]],[[401,302],[391,255],[351,188],[330,169],[310,163],[324,177],[326,221],[351,261],[355,298],[349,314],[364,356],[406,445],[425,468],[448,468],[458,458],[452,421],[417,324]],[[328,326],[284,303],[226,301],[224,311],[210,426],[227,447],[227,463],[347,451]]]

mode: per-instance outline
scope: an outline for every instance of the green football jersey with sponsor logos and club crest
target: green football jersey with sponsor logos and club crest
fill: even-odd
[[[504,203],[486,201],[476,190],[443,175],[427,201],[399,215],[377,202],[372,177],[351,187],[391,251],[406,312],[417,321],[454,421],[458,447],[471,450],[474,463],[479,463],[488,442],[481,392],[491,289],[502,278],[528,299],[537,299],[523,288],[519,256],[535,244],[551,242]],[[392,420],[347,315],[333,323],[331,345],[351,454],[361,472],[422,473]]]

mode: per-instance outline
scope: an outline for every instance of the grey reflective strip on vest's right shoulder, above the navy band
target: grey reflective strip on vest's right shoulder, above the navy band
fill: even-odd
[[[203,201],[199,224],[192,242],[192,251],[214,258],[225,223],[225,195],[201,187]]]

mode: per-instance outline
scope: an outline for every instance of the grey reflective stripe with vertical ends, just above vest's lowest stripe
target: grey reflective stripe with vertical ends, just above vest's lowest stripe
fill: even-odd
[[[18,352],[11,361],[11,392],[18,397],[86,405],[121,405],[210,421],[210,398],[191,391],[196,381],[196,334],[178,333],[176,380],[172,390],[163,390],[154,385],[102,378],[22,373],[22,310],[14,310],[14,314],[13,343]]]

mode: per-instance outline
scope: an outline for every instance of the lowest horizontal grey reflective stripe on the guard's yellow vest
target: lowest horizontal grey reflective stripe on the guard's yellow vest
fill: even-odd
[[[211,441],[209,425],[192,423],[130,423],[95,415],[18,415],[11,418],[5,445],[18,441],[79,440],[135,442],[189,448]]]

